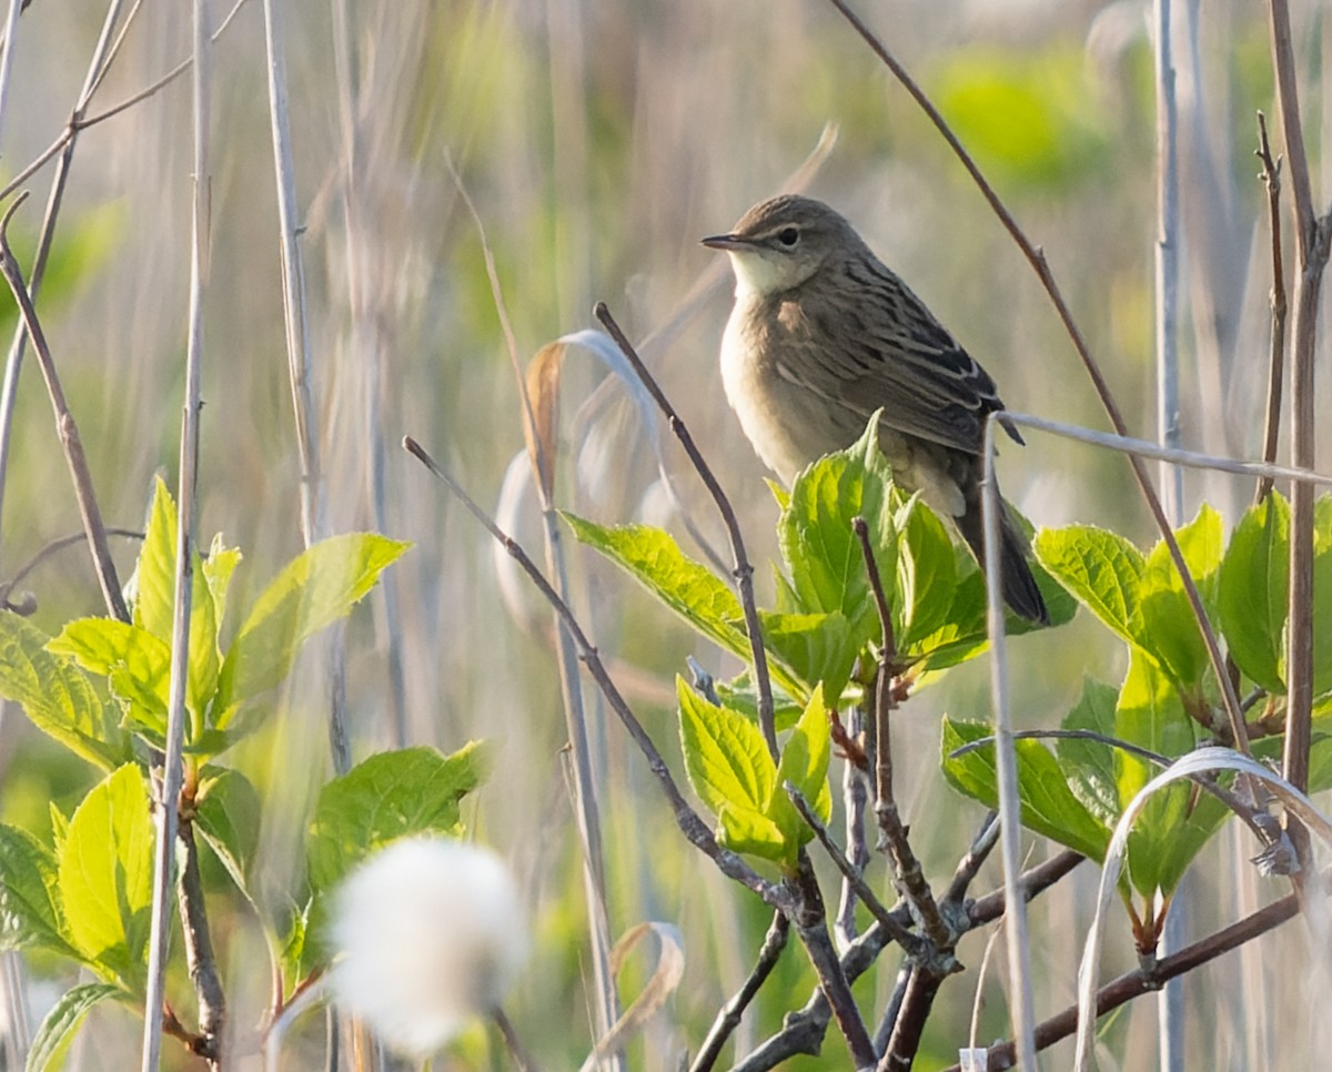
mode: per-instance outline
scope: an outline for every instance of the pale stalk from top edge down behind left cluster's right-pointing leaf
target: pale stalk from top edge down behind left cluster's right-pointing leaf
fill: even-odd
[[[292,164],[292,123],[286,107],[286,41],[280,0],[264,0],[264,43],[268,48],[268,109],[273,132],[273,172],[282,249],[282,313],[286,365],[296,417],[296,446],[301,458],[301,539],[309,547],[325,535],[324,474],[320,434],[310,388],[310,333],[305,309],[305,258],[298,237],[296,168]]]

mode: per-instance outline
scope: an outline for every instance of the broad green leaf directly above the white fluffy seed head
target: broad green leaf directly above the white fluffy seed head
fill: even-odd
[[[372,755],[320,791],[306,856],[310,884],[332,890],[370,852],[416,834],[458,836],[460,802],[485,779],[485,752],[469,742],[452,755],[401,748]]]

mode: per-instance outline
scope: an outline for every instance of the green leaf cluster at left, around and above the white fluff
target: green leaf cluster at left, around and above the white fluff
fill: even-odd
[[[156,836],[148,768],[165,746],[176,535],[176,506],[159,481],[129,585],[131,622],[83,618],[52,638],[0,614],[0,695],[103,771],[72,815],[52,806],[49,832],[0,824],[0,949],[41,949],[97,980],[56,1003],[29,1069],[59,1068],[96,1004],[143,1008]],[[305,641],[350,613],[406,547],[377,534],[309,547],[240,609],[229,643],[222,625],[240,551],[214,539],[206,558],[194,557],[181,822],[249,900],[261,799],[240,770],[214,760],[280,710],[274,688]],[[409,748],[372,756],[325,786],[308,838],[310,904],[394,838],[461,834],[458,802],[484,770],[477,744],[452,756]],[[317,943],[306,938],[317,916],[308,908],[285,940],[286,992],[316,967]],[[281,947],[278,923],[264,918],[264,926],[270,947]]]

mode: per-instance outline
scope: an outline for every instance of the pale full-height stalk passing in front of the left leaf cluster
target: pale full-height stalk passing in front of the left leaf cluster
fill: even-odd
[[[185,740],[185,686],[189,679],[189,618],[193,594],[194,519],[198,479],[200,365],[204,349],[204,286],[209,261],[208,158],[208,0],[194,0],[194,204],[190,226],[189,341],[185,350],[185,409],[180,431],[177,486],[176,602],[172,618],[170,692],[166,707],[166,758],[157,802],[157,852],[153,868],[152,932],[148,952],[148,988],[144,1000],[143,1072],[156,1072],[161,1060],[163,997],[170,927],[172,864],[176,859],[177,808],[182,783]]]

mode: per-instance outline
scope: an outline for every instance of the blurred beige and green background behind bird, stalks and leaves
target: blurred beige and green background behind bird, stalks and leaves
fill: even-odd
[[[549,1068],[589,1048],[591,975],[575,830],[567,804],[563,714],[550,619],[478,526],[398,446],[410,434],[505,525],[539,551],[530,491],[500,503],[522,449],[513,365],[488,280],[484,242],[523,362],[543,344],[594,326],[606,301],[674,400],[741,511],[761,601],[775,549],[766,475],[725,403],[717,372],[730,308],[725,258],[698,238],[729,229],[793,176],[846,214],[882,258],[994,374],[1020,411],[1108,425],[1050,301],[1018,248],[936,132],[846,21],[819,0],[362,0],[286,5],[296,178],[313,345],[313,386],[333,530],[382,527],[414,541],[348,630],[349,710],[357,759],[400,742],[452,751],[492,742],[494,774],[468,823],[521,876],[535,952],[509,1013]],[[1295,5],[1301,71],[1332,60],[1325,4]],[[1043,246],[1131,429],[1155,430],[1152,250],[1156,237],[1151,5],[1084,0],[892,0],[862,17],[920,81],[1032,241]],[[1265,197],[1256,178],[1255,112],[1273,115],[1264,11],[1179,3],[1177,92],[1184,226],[1181,429],[1185,446],[1253,457],[1265,392],[1271,286]],[[230,5],[213,0],[220,24]],[[24,13],[0,166],[5,178],[61,132],[77,99],[105,5],[35,0]],[[189,5],[136,8],[121,55],[89,113],[125,100],[189,55]],[[233,605],[301,547],[300,465],[285,357],[278,224],[265,84],[262,8],[242,3],[218,37],[212,72],[212,270],[205,304],[200,538],[221,531],[245,563]],[[1315,176],[1332,173],[1332,115],[1317,81],[1301,87]],[[1273,125],[1273,129],[1275,125]],[[174,487],[189,280],[192,197],[188,75],[81,132],[41,294],[40,314],[64,377],[109,525],[141,527],[151,479]],[[1276,146],[1280,149],[1280,145]],[[12,226],[25,270],[52,165]],[[1317,182],[1317,180],[1316,180]],[[461,184],[461,189],[460,189]],[[1316,192],[1317,192],[1316,185]],[[1327,204],[1327,193],[1316,196]],[[7,328],[8,294],[0,297]],[[1325,353],[1325,348],[1324,348]],[[1327,362],[1320,364],[1325,385]],[[48,542],[79,531],[68,471],[37,369],[28,360],[0,517],[0,579]],[[1139,543],[1150,517],[1128,466],[1066,441],[1027,435],[1004,450],[1006,494],[1038,526],[1104,525]],[[717,546],[722,530],[673,441],[665,446],[683,506]],[[1324,451],[1325,454],[1325,451]],[[521,474],[518,462],[515,473]],[[1252,487],[1185,475],[1184,517],[1203,499],[1228,521]],[[601,522],[677,531],[645,429],[595,357],[573,350],[562,384],[561,506]],[[571,543],[571,541],[570,541]],[[136,545],[116,543],[121,575]],[[635,710],[679,764],[673,679],[685,659],[717,674],[738,666],[690,634],[631,582],[579,549],[570,562],[581,615]],[[514,581],[514,583],[507,583]],[[87,553],[71,547],[25,578],[33,621],[57,631],[99,614]],[[234,627],[234,622],[230,623]],[[1084,675],[1118,683],[1124,659],[1086,615],[1010,646],[1024,727],[1058,724]],[[301,838],[330,775],[326,684],[316,661],[268,730],[224,758],[265,796],[261,871],[274,920],[300,896]],[[397,670],[396,670],[397,667]],[[900,712],[895,747],[906,818],[927,874],[946,882],[983,815],[938,771],[938,719],[988,716],[984,661],[923,690]],[[401,690],[394,678],[401,678]],[[769,912],[689,850],[618,724],[595,710],[594,747],[606,822],[611,930],[675,923],[687,968],[679,993],[634,1044],[634,1068],[674,1068],[743,980]],[[92,768],[47,742],[17,710],[0,723],[0,816],[49,826]],[[1032,860],[1050,850],[1032,839]],[[1251,888],[1247,846],[1217,839],[1181,896],[1195,936],[1280,890]],[[1240,862],[1240,863],[1236,863]],[[882,862],[875,880],[887,892]],[[822,863],[821,863],[822,868]],[[1038,1017],[1074,996],[1094,868],[1084,866],[1032,910]],[[268,1000],[253,912],[212,875],[216,938],[232,1023],[244,1035]],[[976,884],[998,884],[998,864]],[[831,880],[829,884],[831,890]],[[1303,1067],[1299,1024],[1276,1035],[1272,1011],[1293,973],[1271,967],[1301,948],[1301,924],[1189,976],[1189,1052],[1199,1067]],[[982,1043],[1008,1035],[1002,943],[982,980],[984,935],[960,949],[971,969],[950,980],[918,1068],[966,1044],[978,989]],[[1134,967],[1127,927],[1107,972]],[[631,996],[650,965],[631,964]],[[871,1019],[896,955],[856,993]],[[33,1023],[72,979],[25,965]],[[741,1052],[805,1003],[813,975],[785,955],[738,1033]],[[177,1008],[192,1012],[184,977]],[[1296,1015],[1296,1019],[1299,1016]],[[1289,1024],[1287,1028],[1289,1029]],[[99,1011],[71,1067],[137,1061],[139,1023]],[[309,1029],[310,1060],[318,1025]],[[1146,1068],[1155,1005],[1107,1028],[1107,1064]],[[1067,1061],[1056,1049],[1050,1067]],[[193,1059],[168,1048],[170,1067]],[[793,1068],[835,1068],[844,1048]],[[477,1031],[437,1068],[502,1067]],[[312,1065],[313,1067],[313,1065]]]

